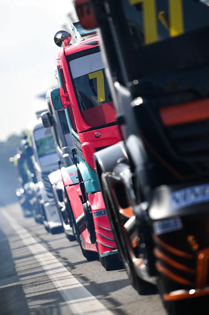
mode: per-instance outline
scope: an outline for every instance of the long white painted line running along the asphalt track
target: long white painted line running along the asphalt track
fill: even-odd
[[[74,315],[113,315],[83,284],[73,277],[72,273],[54,255],[39,244],[24,227],[20,226],[5,211],[2,211],[2,214],[33,253],[34,258],[40,263]]]

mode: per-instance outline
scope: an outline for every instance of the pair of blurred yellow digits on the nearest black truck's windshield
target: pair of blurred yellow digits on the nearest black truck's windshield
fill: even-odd
[[[184,33],[182,0],[169,1],[169,33],[171,37]],[[131,5],[143,3],[145,44],[158,40],[156,0],[129,0]]]

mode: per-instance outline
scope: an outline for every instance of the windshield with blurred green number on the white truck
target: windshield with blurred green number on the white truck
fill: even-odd
[[[39,157],[56,153],[56,146],[51,128],[40,128],[35,130],[34,139]]]

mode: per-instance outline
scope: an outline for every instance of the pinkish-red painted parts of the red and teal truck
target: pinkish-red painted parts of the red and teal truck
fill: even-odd
[[[79,139],[82,144],[83,155],[87,163],[89,164],[89,166],[92,169],[94,169],[94,171],[96,171],[95,166],[94,166],[94,158],[93,158],[93,154],[96,152],[95,148],[113,145],[121,141],[121,138],[119,135],[119,130],[118,130],[117,125],[106,127],[106,128],[97,128],[95,130],[90,130],[90,131],[88,129],[91,127],[96,128],[96,126],[100,124],[99,122],[101,122],[101,124],[104,124],[104,120],[106,123],[114,122],[115,109],[113,107],[113,102],[109,102],[109,103],[97,106],[94,109],[88,109],[84,111],[83,116],[82,116],[78,107],[75,91],[73,89],[73,84],[72,84],[72,80],[71,80],[68,65],[67,65],[66,55],[74,54],[78,51],[84,51],[87,49],[91,49],[93,47],[97,47],[99,45],[92,46],[86,43],[88,42],[90,43],[92,41],[98,41],[98,40],[99,40],[99,37],[94,37],[94,38],[90,38],[88,40],[82,41],[80,43],[76,43],[71,46],[61,48],[57,56],[57,67],[60,68],[62,66],[66,89],[67,89],[67,93],[70,99],[70,105],[68,105],[68,112],[69,112],[70,117],[72,118],[72,120],[75,121],[75,124],[76,124],[76,126],[74,126],[73,129],[77,130]],[[83,43],[85,43],[85,45],[83,45]],[[83,119],[83,117],[85,118],[86,121]],[[99,132],[101,134],[99,138],[95,137],[95,132]],[[83,205],[79,197],[82,195],[80,191],[80,187],[78,184],[67,186],[66,190],[67,190],[67,194],[72,205],[75,218],[78,218],[79,215],[83,213]],[[95,211],[105,209],[105,204],[104,204],[104,200],[102,198],[101,192],[96,192],[94,194],[88,195],[88,198],[91,204],[93,214]],[[94,215],[93,215],[93,218],[94,218]],[[95,217],[94,224],[95,224],[96,237],[98,240],[99,252],[103,254],[105,252],[115,250],[116,245],[115,245],[113,234],[110,228],[110,222],[108,220],[108,216],[103,215],[103,216]],[[99,224],[99,226],[97,224]],[[107,238],[110,238],[110,240]],[[96,246],[90,244],[87,230],[83,232],[81,239],[84,239],[85,244],[87,245],[87,249],[96,250]],[[103,243],[104,245],[101,245],[99,242]]]

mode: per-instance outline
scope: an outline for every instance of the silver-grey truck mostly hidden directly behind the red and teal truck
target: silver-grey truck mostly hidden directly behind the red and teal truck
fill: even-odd
[[[57,72],[55,73],[55,77],[58,80]],[[63,181],[65,182],[66,172],[68,174],[76,170],[75,165],[73,165],[74,162],[71,151],[73,148],[72,138],[65,112],[56,111],[51,104],[51,89],[46,93],[46,101],[48,111],[41,114],[41,119],[44,127],[52,128],[56,151],[59,156],[59,169],[49,175],[49,180],[66,237],[70,241],[74,241],[76,232],[73,229],[72,218],[65,198],[65,186],[63,184]]]

